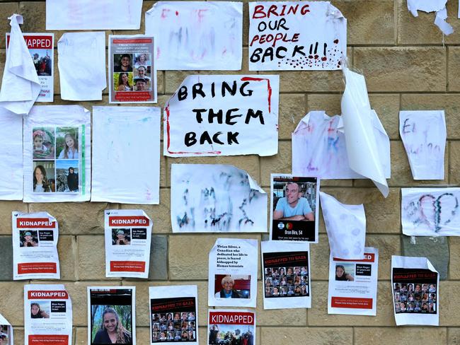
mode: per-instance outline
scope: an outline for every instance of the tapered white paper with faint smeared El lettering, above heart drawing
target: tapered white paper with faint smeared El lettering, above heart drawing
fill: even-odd
[[[444,180],[444,110],[399,112],[399,134],[414,180]]]

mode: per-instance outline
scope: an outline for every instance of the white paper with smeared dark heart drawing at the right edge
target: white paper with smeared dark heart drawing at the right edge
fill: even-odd
[[[401,223],[410,236],[460,236],[460,188],[402,188]]]

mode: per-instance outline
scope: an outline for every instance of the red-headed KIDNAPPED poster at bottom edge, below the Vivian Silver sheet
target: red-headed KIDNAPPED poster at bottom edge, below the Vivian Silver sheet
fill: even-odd
[[[209,309],[207,344],[255,345],[255,312]]]

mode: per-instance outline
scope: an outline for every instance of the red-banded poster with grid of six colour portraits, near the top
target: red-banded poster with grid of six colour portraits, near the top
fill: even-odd
[[[156,41],[144,35],[109,35],[109,103],[156,103]]]

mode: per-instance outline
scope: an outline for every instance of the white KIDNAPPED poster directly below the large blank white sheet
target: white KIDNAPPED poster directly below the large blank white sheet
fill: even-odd
[[[152,225],[142,210],[105,210],[105,276],[149,278]]]

